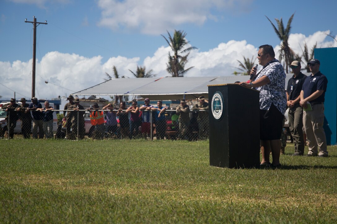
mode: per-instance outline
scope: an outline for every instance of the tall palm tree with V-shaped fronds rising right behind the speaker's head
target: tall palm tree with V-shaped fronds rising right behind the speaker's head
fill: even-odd
[[[275,25],[272,23],[272,21],[266,16],[269,22],[272,24],[276,35],[282,42],[281,49],[280,49],[280,55],[282,55],[282,58],[284,59],[286,72],[288,72],[288,66],[290,65],[290,63],[292,63],[292,58],[294,58],[293,56],[294,51],[289,47],[289,44],[288,44],[288,39],[289,39],[290,29],[291,29],[290,25],[293,21],[294,15],[295,15],[295,12],[294,14],[292,14],[292,16],[290,16],[288,23],[287,23],[287,27],[285,29],[283,26],[282,18],[280,20],[275,18],[276,24],[277,24],[277,28],[276,28]]]

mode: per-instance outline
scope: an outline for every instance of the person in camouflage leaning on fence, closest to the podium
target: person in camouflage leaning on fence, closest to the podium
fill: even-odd
[[[194,105],[192,110],[205,110],[198,113],[198,126],[199,126],[199,139],[207,139],[208,138],[208,103],[205,102],[205,97],[199,97],[199,103]]]

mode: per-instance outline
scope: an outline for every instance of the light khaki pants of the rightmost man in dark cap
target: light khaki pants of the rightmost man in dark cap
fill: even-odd
[[[324,104],[316,104],[311,107],[312,111],[303,111],[303,125],[309,143],[308,155],[317,155],[318,153],[318,155],[327,156],[327,139],[323,129]]]

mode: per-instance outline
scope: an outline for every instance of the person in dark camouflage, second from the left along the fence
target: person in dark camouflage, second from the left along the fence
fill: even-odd
[[[21,105],[17,108],[21,119],[21,133],[25,139],[30,138],[30,132],[32,130],[32,115],[30,114],[25,98],[21,98]]]

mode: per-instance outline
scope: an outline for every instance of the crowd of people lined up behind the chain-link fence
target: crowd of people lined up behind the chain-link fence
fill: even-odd
[[[15,99],[11,99],[10,103],[2,107],[2,110],[7,112],[7,125],[1,128],[0,137],[12,139],[14,128],[20,119],[21,134],[25,139],[208,139],[208,103],[203,96],[198,100],[199,103],[195,104],[192,110],[186,105],[185,99],[180,100],[180,105],[174,110],[164,107],[160,100],[156,106],[150,105],[148,98],[144,100],[143,105],[138,105],[136,100],[132,101],[131,106],[121,102],[118,109],[111,103],[102,108],[97,103],[90,108],[84,108],[79,98],[70,95],[63,109],[63,119],[57,122],[54,135],[53,113],[56,112],[48,101],[45,101],[42,107],[35,97],[31,99],[30,104],[22,98],[20,105]],[[86,113],[90,114],[90,121],[85,120]],[[86,123],[91,124],[87,132]]]

